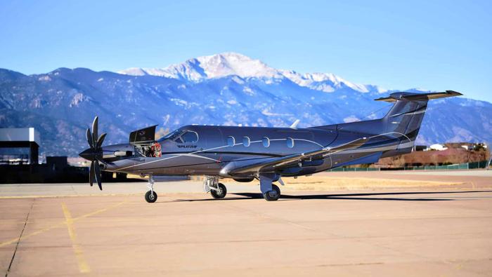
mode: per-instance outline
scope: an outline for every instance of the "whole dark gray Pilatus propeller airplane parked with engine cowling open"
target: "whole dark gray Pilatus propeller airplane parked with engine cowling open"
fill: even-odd
[[[98,117],[92,132],[86,130],[89,149],[79,156],[91,161],[89,183],[101,185],[101,170],[148,177],[145,201],[157,194],[153,176],[205,175],[204,190],[213,198],[224,198],[221,178],[237,182],[259,180],[266,201],[280,198],[281,177],[311,175],[331,168],[375,163],[380,158],[413,151],[427,102],[462,95],[441,93],[391,93],[376,101],[394,103],[382,119],[297,128],[188,125],[155,139],[155,126],[135,130],[129,143],[103,147],[98,137]]]

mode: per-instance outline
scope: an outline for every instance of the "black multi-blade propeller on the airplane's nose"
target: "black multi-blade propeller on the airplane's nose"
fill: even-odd
[[[98,183],[99,189],[103,190],[103,185],[101,184],[101,168],[100,163],[104,164],[103,161],[103,142],[106,137],[106,133],[101,134],[98,137],[98,117],[94,118],[92,122],[92,133],[89,128],[86,130],[86,139],[89,143],[89,149],[82,151],[79,156],[91,161],[91,168],[89,170],[89,184],[91,187],[96,181]]]

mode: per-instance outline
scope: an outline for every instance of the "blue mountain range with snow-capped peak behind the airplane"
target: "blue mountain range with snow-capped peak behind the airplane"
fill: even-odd
[[[335,74],[275,69],[238,53],[119,72],[59,68],[25,75],[0,69],[0,127],[34,127],[41,154],[77,156],[96,115],[100,133],[108,133],[105,144],[113,144],[154,124],[164,133],[186,124],[290,126],[300,119],[299,127],[308,127],[375,119],[391,104],[373,100],[394,91]],[[492,104],[465,97],[429,102],[417,137],[417,144],[488,141]]]

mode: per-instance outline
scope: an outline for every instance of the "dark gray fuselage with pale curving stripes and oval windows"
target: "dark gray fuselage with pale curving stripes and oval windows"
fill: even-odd
[[[380,121],[380,120],[376,120]],[[368,123],[368,121],[363,121]],[[217,175],[222,177],[249,177],[251,175],[227,176],[221,175],[224,165],[235,161],[248,163],[251,161],[268,160],[268,158],[312,151],[330,145],[339,145],[360,137],[376,135],[368,144],[354,151],[318,157],[312,161],[304,161],[284,169],[285,176],[309,175],[341,165],[358,163],[363,157],[363,163],[373,163],[384,154],[402,154],[411,151],[413,143],[404,149],[395,149],[401,142],[401,135],[377,133],[359,133],[344,130],[351,123],[319,128],[262,128],[235,126],[183,126],[180,131],[193,131],[198,134],[197,142],[176,142],[161,140],[161,157],[131,156],[129,158],[108,161],[105,170],[140,175]],[[235,144],[230,143],[231,138]],[[229,140],[229,144],[228,144]],[[250,141],[246,146],[244,142]],[[268,143],[265,141],[268,140]],[[287,143],[287,141],[289,141]],[[292,145],[293,142],[293,145]],[[290,144],[289,144],[290,143]],[[246,143],[247,144],[247,143]],[[118,144],[103,147],[105,154],[113,151],[134,151],[131,144]],[[371,156],[372,155],[372,156]],[[350,163],[353,161],[353,163]]]

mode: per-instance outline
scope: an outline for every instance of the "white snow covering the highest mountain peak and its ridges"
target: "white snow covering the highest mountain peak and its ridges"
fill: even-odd
[[[133,76],[163,76],[186,81],[203,81],[237,75],[241,78],[289,79],[299,86],[332,93],[335,89],[351,88],[361,93],[381,92],[375,86],[351,83],[332,73],[300,74],[293,70],[274,69],[260,60],[254,60],[238,53],[221,53],[186,60],[186,62],[169,65],[164,68],[129,68],[118,72]],[[386,91],[386,90],[384,90]]]

